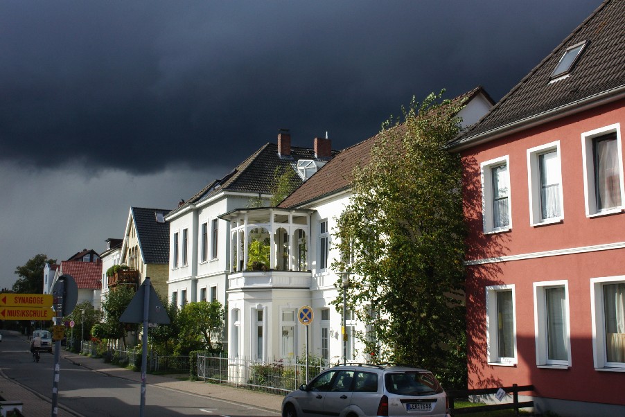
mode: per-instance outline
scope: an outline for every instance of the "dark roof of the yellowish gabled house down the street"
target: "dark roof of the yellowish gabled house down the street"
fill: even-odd
[[[130,211],[143,262],[146,265],[169,263],[169,222],[157,222],[156,213],[166,215],[170,210],[131,207]]]

